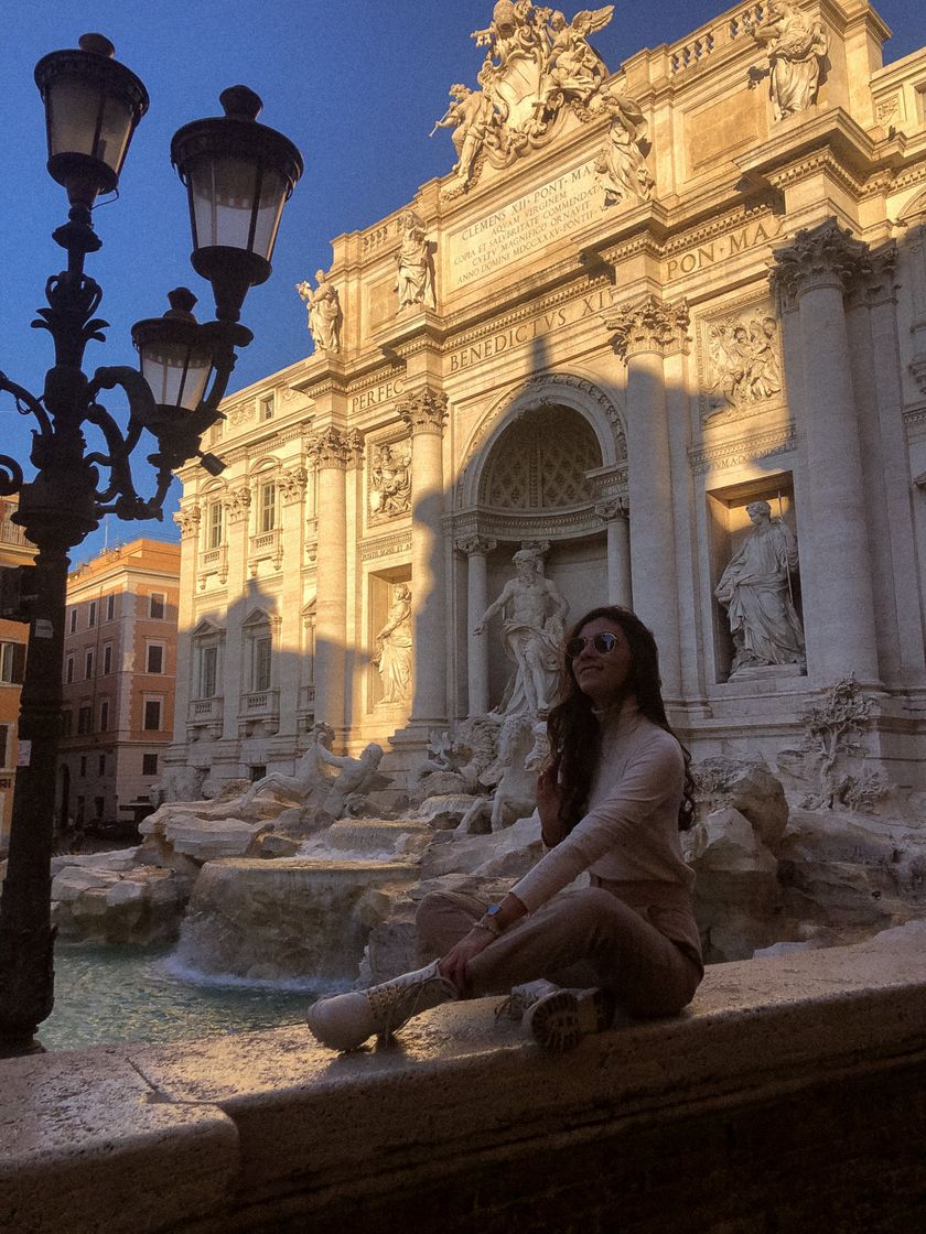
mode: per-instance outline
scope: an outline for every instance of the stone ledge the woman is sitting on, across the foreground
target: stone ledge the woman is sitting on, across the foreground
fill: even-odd
[[[595,1203],[614,1193],[621,1229],[674,1234],[689,1227],[678,1213],[667,1220],[665,1204],[679,1201],[668,1182],[661,1211],[648,1193],[627,1204],[658,1162],[685,1178],[701,1154],[686,1183],[696,1191],[732,1169],[720,1128],[728,1138],[733,1124],[749,1137],[774,1125],[772,1151],[790,1154],[798,1174],[828,1165],[838,1201],[853,1178],[870,1190],[864,1156],[875,1162],[866,1145],[878,1119],[904,1219],[911,1206],[926,1213],[926,1182],[917,1193],[904,1181],[898,1155],[898,1139],[926,1133],[915,1096],[926,1070],[924,923],[857,946],[716,965],[685,1014],[589,1038],[565,1058],[543,1055],[519,1025],[496,1025],[495,1003],[441,1007],[391,1045],[352,1055],[289,1025],[0,1064],[0,1230],[277,1234],[311,1220],[343,1234],[351,1212],[369,1232],[540,1230],[547,1217],[530,1215],[540,1193],[551,1223],[568,1196],[570,1217],[584,1204],[595,1229]],[[872,1109],[856,1127],[851,1111],[866,1101],[877,1101],[877,1118]],[[800,1151],[795,1135],[806,1138]],[[746,1195],[742,1170],[753,1167],[747,1155],[717,1197]],[[701,1212],[691,1228],[767,1228],[737,1225],[720,1203],[709,1206],[716,1227]],[[875,1217],[868,1228],[914,1228]]]

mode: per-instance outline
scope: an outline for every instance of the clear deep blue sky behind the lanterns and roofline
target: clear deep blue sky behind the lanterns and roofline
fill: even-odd
[[[242,353],[232,387],[256,381],[309,352],[305,310],[294,288],[331,262],[331,239],[367,227],[409,201],[420,184],[453,163],[448,132],[428,139],[454,81],[475,85],[482,52],[469,37],[488,26],[493,0],[84,0],[79,6],[33,0],[4,12],[0,120],[6,169],[0,232],[0,370],[41,392],[51,338],[30,329],[44,304],[44,281],[63,264],[51,232],[67,217],[63,189],[44,170],[44,121],[32,79],[47,52],[73,47],[86,31],[105,33],[116,57],[151,95],[122,174],[120,199],[100,206],[104,241],[88,273],[104,290],[100,316],[111,328],[90,343],[86,366],[135,364],[130,328],[161,315],[165,294],[185,284],[211,317],[209,286],[189,265],[185,191],[170,167],[180,125],[216,115],[225,86],[243,83],[264,100],[261,120],[299,146],[306,170],[283,217],[270,281],[253,289],[242,320],[254,342]],[[894,31],[885,63],[926,43],[921,0],[875,6]],[[79,12],[78,12],[79,9]],[[565,7],[567,17],[577,11]],[[724,11],[704,0],[616,7],[593,39],[611,70],[642,47],[670,43]],[[110,410],[119,412],[117,402]],[[0,450],[30,474],[30,422],[0,396]],[[140,487],[148,479],[138,468]],[[179,485],[175,485],[179,490]],[[175,494],[169,508],[175,508]],[[110,524],[110,540],[173,534],[168,522]],[[73,553],[85,559],[102,532]]]

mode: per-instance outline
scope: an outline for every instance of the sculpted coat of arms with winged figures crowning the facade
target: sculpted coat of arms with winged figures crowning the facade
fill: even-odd
[[[485,30],[473,32],[485,59],[480,90],[451,88],[451,105],[431,130],[453,128],[454,176],[442,190],[458,196],[479,178],[483,162],[507,167],[546,144],[567,106],[580,120],[604,107],[607,68],[589,36],[610,22],[614,5],[583,9],[572,22],[532,0],[499,0]]]

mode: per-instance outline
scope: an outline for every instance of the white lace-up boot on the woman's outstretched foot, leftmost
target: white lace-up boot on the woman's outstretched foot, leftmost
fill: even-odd
[[[388,1040],[412,1016],[459,997],[437,971],[437,960],[415,972],[332,998],[320,998],[306,1014],[309,1032],[332,1050],[356,1050],[375,1033]]]

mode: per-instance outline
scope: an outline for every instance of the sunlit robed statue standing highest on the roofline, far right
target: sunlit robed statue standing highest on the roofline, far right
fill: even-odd
[[[816,102],[820,68],[828,38],[822,22],[784,0],[769,0],[765,21],[745,22],[757,43],[768,51],[772,110],[775,120],[806,111]]]

